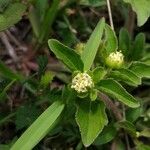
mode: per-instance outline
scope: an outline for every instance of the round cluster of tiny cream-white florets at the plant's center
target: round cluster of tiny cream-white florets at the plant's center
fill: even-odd
[[[72,79],[71,88],[75,89],[78,93],[87,92],[89,88],[94,85],[92,78],[86,73],[78,73]]]

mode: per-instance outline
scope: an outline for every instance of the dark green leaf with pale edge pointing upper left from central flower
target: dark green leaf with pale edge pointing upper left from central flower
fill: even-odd
[[[80,70],[83,71],[83,62],[73,49],[63,45],[57,40],[48,40],[48,45],[58,59],[70,68],[72,71]]]

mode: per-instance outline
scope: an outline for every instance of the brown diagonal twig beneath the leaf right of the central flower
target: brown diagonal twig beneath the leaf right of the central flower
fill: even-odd
[[[117,120],[122,120],[122,114],[118,107],[112,102],[112,100],[105,94],[99,94],[100,99],[105,103],[106,107],[110,109]]]

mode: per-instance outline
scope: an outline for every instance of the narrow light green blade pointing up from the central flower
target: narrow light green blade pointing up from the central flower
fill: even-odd
[[[101,38],[103,35],[104,27],[105,27],[105,20],[104,18],[102,18],[98,22],[96,28],[92,32],[92,35],[90,36],[89,40],[87,41],[85,45],[85,48],[81,55],[81,58],[84,63],[84,71],[88,71],[93,64],[97,50],[101,43]]]

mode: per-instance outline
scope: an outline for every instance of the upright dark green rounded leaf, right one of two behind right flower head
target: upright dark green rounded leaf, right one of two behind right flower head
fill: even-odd
[[[134,41],[133,51],[131,53],[132,60],[139,60],[143,56],[145,46],[145,35],[139,33]]]

